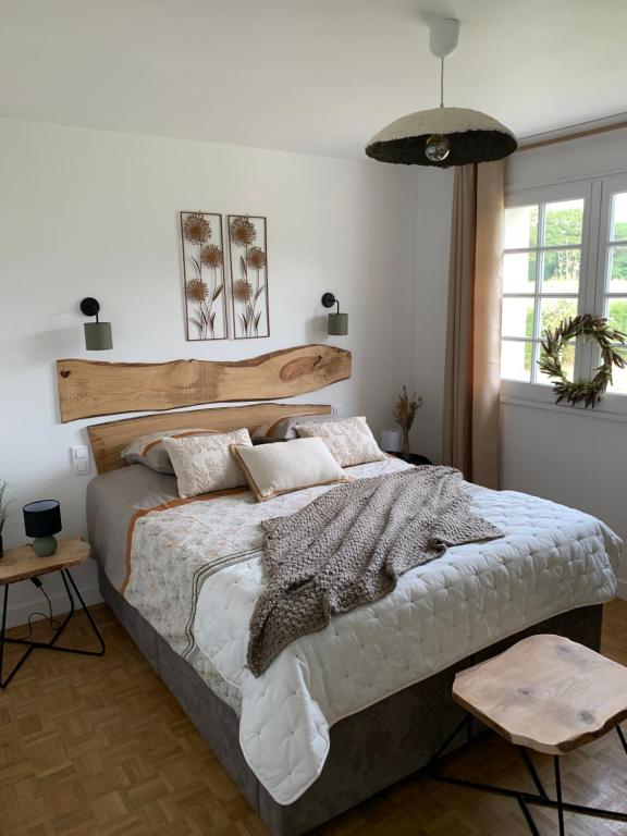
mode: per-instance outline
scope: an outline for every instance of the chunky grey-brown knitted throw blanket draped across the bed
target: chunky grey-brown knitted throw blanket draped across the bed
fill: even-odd
[[[358,479],[290,517],[262,522],[268,586],[250,619],[248,666],[260,676],[284,647],[331,616],[391,592],[448,545],[502,537],[470,512],[462,474],[419,467]]]

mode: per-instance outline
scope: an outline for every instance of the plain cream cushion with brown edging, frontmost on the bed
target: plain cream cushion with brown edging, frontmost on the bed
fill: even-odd
[[[258,502],[315,484],[352,481],[321,439],[231,450]]]

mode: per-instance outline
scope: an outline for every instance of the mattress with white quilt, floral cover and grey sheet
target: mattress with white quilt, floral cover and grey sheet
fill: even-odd
[[[388,459],[348,472],[365,478],[406,466]],[[407,573],[393,593],[293,642],[255,678],[245,660],[263,588],[259,522],[293,514],[331,488],[266,503],[247,491],[177,501],[174,479],[142,465],[91,484],[89,530],[107,576],[206,680],[214,678],[210,687],[241,704],[243,753],[282,804],[316,780],[329,730],[342,717],[530,625],[615,593],[622,544],[601,521],[538,497],[466,484],[474,511],[504,538],[455,546]]]

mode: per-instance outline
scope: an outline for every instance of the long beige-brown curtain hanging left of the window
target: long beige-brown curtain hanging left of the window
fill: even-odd
[[[455,170],[444,379],[444,463],[499,487],[504,162]]]

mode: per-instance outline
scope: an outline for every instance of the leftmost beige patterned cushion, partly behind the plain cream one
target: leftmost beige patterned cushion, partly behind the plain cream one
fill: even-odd
[[[231,454],[232,444],[251,446],[248,430],[163,439],[163,445],[176,474],[179,495],[187,499],[246,484],[246,479]]]

